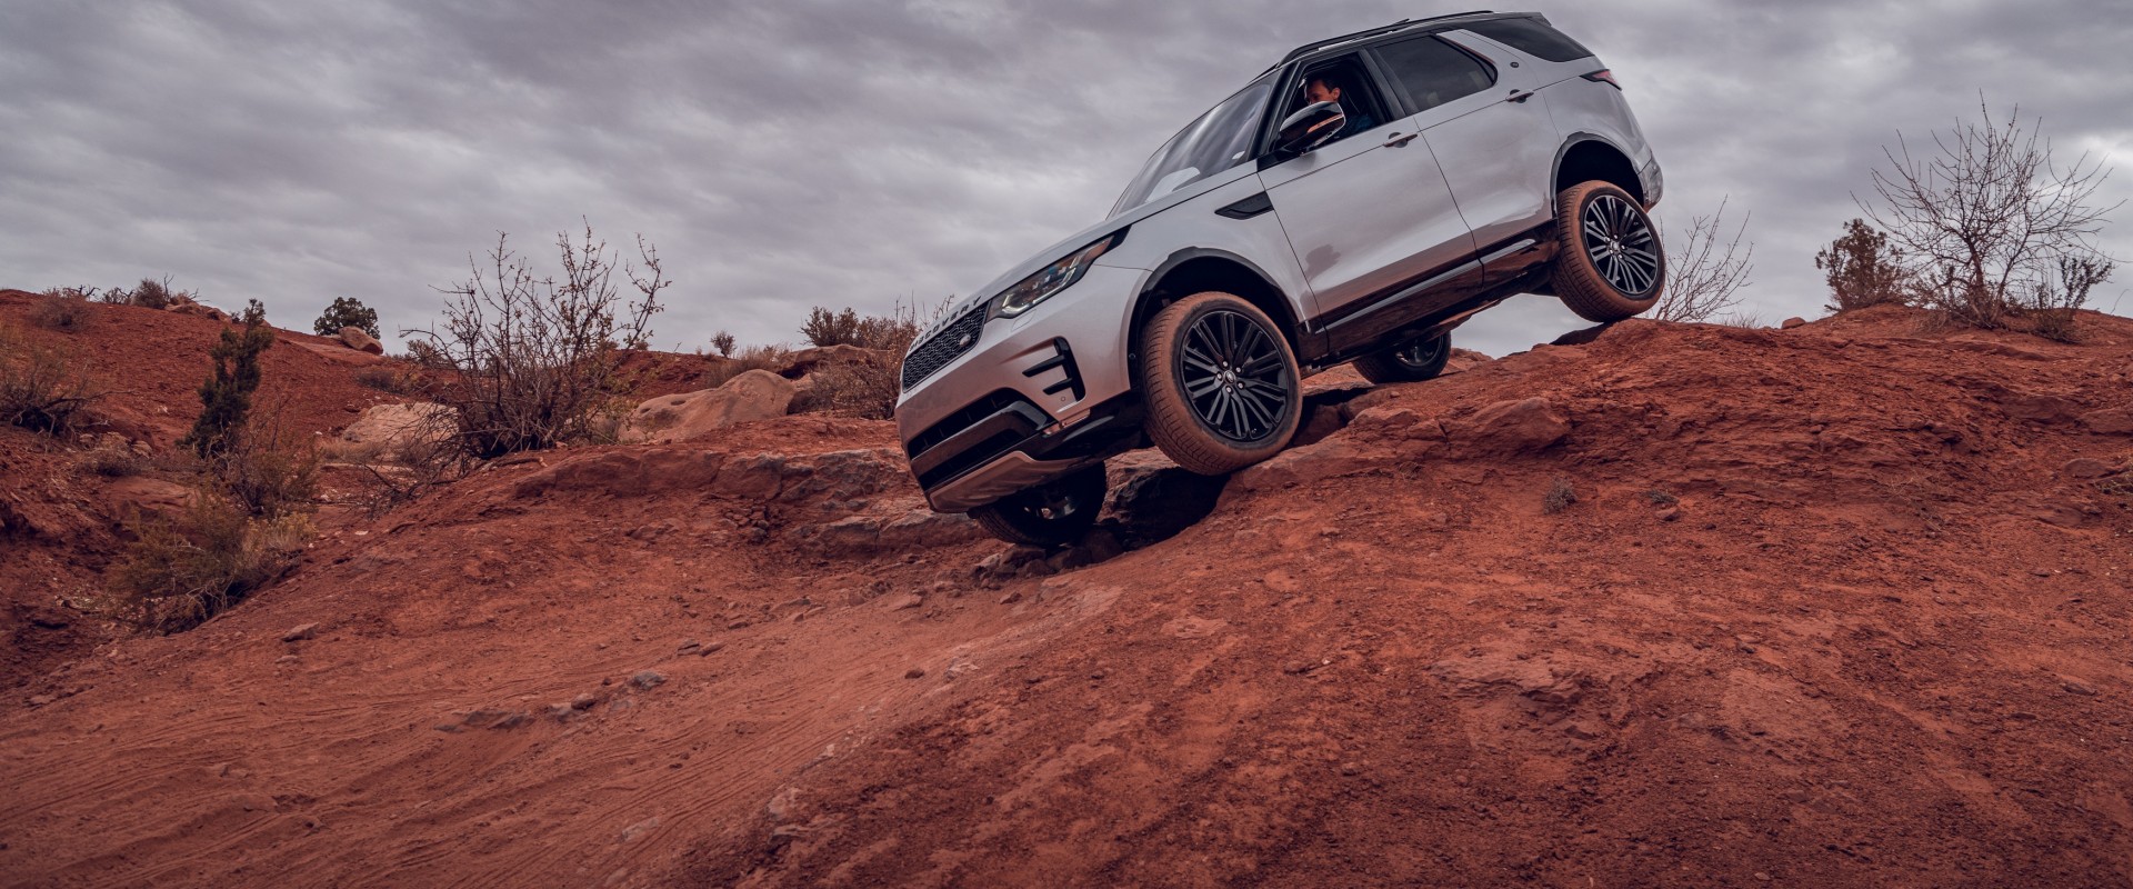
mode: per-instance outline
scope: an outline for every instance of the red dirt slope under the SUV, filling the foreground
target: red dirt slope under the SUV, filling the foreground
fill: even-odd
[[[38,678],[0,872],[2127,885],[2133,322],[1625,322],[1060,573],[928,518],[885,422],[495,465]]]

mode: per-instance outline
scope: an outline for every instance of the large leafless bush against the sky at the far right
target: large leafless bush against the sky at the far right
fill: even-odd
[[[2078,292],[2058,277],[2069,260],[2110,275],[2095,237],[2116,205],[2092,203],[2107,171],[2086,153],[2056,166],[2041,126],[2022,124],[2020,109],[2003,124],[1984,100],[1977,111],[1982,124],[1935,132],[1928,158],[1915,158],[1898,132],[1896,149],[1881,149],[1888,166],[1873,171],[1879,200],[1860,200],[1860,209],[1903,252],[1926,307],[1958,324],[1999,328],[2041,298],[2063,313],[2071,337],[2073,309],[2101,277],[2071,281],[2086,284]]]

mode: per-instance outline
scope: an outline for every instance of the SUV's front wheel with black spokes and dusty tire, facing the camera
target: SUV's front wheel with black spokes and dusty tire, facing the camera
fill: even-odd
[[[1141,384],[1148,437],[1201,475],[1280,454],[1303,416],[1288,337],[1256,305],[1224,292],[1186,296],[1148,320]]]

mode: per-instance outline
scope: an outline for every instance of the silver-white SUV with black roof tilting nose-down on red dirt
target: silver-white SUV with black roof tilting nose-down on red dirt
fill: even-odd
[[[1429,379],[1521,292],[1610,322],[1666,262],[1659,164],[1606,66],[1534,13],[1318,41],[1165,143],[1111,217],[919,333],[896,424],[941,512],[1066,544],[1103,460],[1229,473],[1288,443],[1301,379]]]

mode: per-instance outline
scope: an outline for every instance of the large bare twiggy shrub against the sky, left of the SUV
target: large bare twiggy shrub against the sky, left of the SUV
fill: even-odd
[[[555,245],[563,277],[535,277],[497,235],[488,269],[469,258],[474,277],[439,288],[444,330],[401,330],[420,337],[435,350],[431,360],[452,371],[437,401],[456,411],[469,456],[599,439],[627,390],[621,350],[640,350],[651,337],[659,290],[670,284],[651,243],[638,237],[642,273],[638,264],[616,269],[591,224],[582,241],[557,235]],[[616,271],[636,288],[636,301],[623,301]]]

